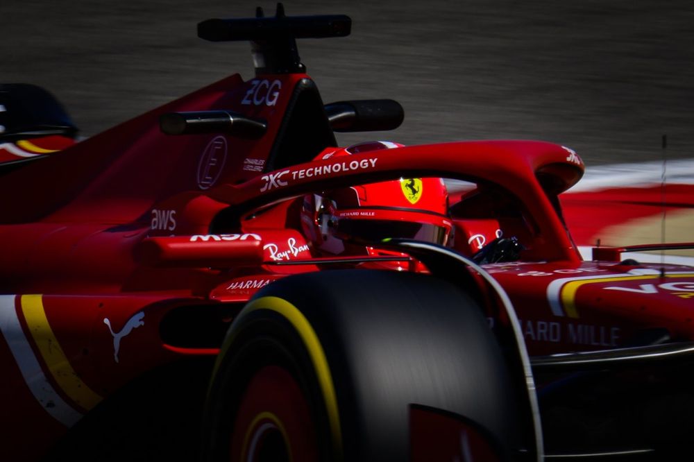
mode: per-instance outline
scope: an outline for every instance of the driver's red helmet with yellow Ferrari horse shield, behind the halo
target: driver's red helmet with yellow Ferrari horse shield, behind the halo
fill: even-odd
[[[328,148],[317,159],[400,147],[403,145],[391,142],[366,142]],[[452,223],[447,211],[448,192],[441,178],[400,178],[307,195],[301,223],[321,253],[393,255],[364,246],[364,242],[403,238],[448,245]]]

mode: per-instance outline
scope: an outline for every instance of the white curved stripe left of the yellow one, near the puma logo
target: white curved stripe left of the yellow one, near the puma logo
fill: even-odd
[[[82,414],[67,404],[46,378],[19,323],[15,297],[0,296],[0,332],[10,345],[10,351],[17,361],[19,370],[22,371],[24,382],[41,407],[62,425],[71,427],[82,418]]]

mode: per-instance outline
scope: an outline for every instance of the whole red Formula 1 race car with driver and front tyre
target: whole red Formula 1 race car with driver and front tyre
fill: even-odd
[[[201,22],[251,41],[255,77],[0,166],[3,460],[686,450],[694,268],[583,261],[570,148],[338,147],[403,120],[321,101],[296,39],[349,33],[280,6]]]

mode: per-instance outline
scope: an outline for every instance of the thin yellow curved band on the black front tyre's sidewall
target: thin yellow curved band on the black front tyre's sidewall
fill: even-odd
[[[237,320],[242,318],[242,316],[260,309],[269,309],[280,314],[282,317],[287,319],[289,323],[291,323],[301,337],[301,340],[303,341],[306,350],[311,357],[311,362],[313,363],[316,377],[318,377],[319,387],[321,388],[321,393],[323,394],[323,402],[325,403],[325,410],[328,413],[330,434],[332,436],[335,450],[337,454],[341,456],[342,431],[340,428],[340,418],[337,407],[337,395],[335,393],[335,385],[332,382],[332,374],[330,374],[328,359],[325,357],[325,352],[323,351],[323,346],[321,345],[318,335],[316,335],[311,323],[309,323],[309,321],[297,307],[287,302],[287,300],[278,297],[267,296],[253,300],[252,302],[248,303],[246,307],[244,307],[241,314],[239,314],[237,317]],[[230,345],[232,340],[233,336],[226,339],[223,351],[228,348],[228,345]],[[223,354],[221,354],[220,357],[221,356],[223,356]],[[217,366],[215,366],[215,375],[217,373],[217,367],[219,367],[219,361],[217,361]]]

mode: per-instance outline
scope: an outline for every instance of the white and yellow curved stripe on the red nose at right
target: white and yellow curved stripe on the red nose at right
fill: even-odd
[[[665,277],[694,277],[694,273],[667,273]],[[609,274],[609,275],[592,275],[592,276],[579,276],[579,277],[564,277],[561,279],[554,280],[550,282],[547,286],[547,299],[550,302],[550,307],[552,313],[555,316],[568,316],[569,318],[578,318],[578,311],[576,309],[576,293],[581,286],[585,284],[598,284],[598,283],[610,283],[610,282],[632,282],[638,280],[652,280],[660,279],[659,274]],[[684,285],[683,285],[684,284]],[[661,287],[665,286],[665,287]],[[631,291],[636,291],[638,293],[659,293],[659,288],[666,291],[671,291],[670,293],[684,292],[683,298],[688,298],[688,290],[683,290],[685,288],[694,289],[694,284],[691,282],[671,282],[663,283],[655,286],[654,284],[642,284],[638,289],[633,287],[627,287],[620,284],[615,284],[612,286],[604,287],[603,289],[609,290],[622,290],[622,289],[632,289]],[[655,292],[652,290],[655,289]]]

